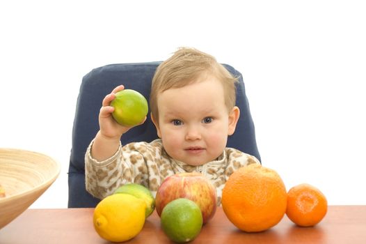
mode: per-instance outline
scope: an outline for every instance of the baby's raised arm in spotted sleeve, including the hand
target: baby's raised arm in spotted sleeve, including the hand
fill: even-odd
[[[120,125],[112,116],[114,108],[111,107],[111,101],[116,98],[115,94],[123,89],[124,86],[117,86],[104,98],[99,114],[100,130],[85,156],[86,190],[100,199],[111,195],[119,185],[133,182],[136,176],[136,165],[122,157],[120,144],[122,135],[132,127]],[[144,122],[145,120],[141,124]],[[129,153],[123,155],[129,157]],[[146,167],[142,157],[140,161],[138,164]]]

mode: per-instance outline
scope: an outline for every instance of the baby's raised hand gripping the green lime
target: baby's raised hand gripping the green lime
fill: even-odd
[[[111,93],[109,93],[102,102],[102,108],[100,109],[99,114],[99,125],[100,125],[100,133],[107,138],[111,139],[120,139],[122,134],[127,132],[132,127],[125,127],[120,125],[113,119],[112,113],[114,111],[114,107],[111,106],[111,102],[114,98],[116,98],[116,93],[118,91],[122,91],[125,89],[125,86],[120,85],[117,86]],[[145,118],[146,120],[146,118]],[[144,123],[145,120],[142,122]],[[141,124],[142,124],[141,123]]]

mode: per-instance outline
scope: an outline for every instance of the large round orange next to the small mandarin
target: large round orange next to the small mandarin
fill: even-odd
[[[269,229],[286,212],[287,192],[276,171],[261,165],[248,165],[235,171],[223,188],[225,215],[246,232]]]

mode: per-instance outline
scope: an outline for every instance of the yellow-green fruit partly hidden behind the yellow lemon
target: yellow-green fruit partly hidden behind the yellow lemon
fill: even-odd
[[[152,196],[150,190],[148,188],[145,188],[145,186],[136,183],[128,183],[117,188],[114,194],[116,193],[125,193],[143,199],[143,201],[145,201],[146,203],[146,218],[148,218],[152,214],[152,212],[154,212],[154,196]]]

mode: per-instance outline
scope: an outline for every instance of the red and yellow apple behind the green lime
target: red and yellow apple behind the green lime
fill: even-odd
[[[155,198],[155,207],[160,216],[164,206],[178,198],[194,201],[202,212],[203,223],[208,222],[216,212],[216,189],[198,172],[180,173],[166,178],[161,183]]]

